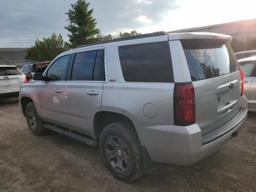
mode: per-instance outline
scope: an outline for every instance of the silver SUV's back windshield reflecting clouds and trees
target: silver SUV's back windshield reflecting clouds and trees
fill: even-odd
[[[238,70],[229,43],[216,40],[182,40],[192,81],[222,76]]]

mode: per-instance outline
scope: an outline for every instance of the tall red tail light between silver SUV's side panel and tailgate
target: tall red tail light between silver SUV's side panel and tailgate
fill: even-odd
[[[196,123],[195,90],[192,82],[174,84],[174,125]]]

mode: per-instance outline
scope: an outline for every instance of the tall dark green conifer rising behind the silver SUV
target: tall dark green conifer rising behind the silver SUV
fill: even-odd
[[[67,13],[70,24],[65,29],[71,33],[68,37],[72,46],[95,42],[95,35],[100,34],[96,19],[92,17],[93,9],[88,10],[89,5],[85,0],[77,0]]]

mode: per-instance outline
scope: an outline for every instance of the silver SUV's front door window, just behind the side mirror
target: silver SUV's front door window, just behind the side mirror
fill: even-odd
[[[70,55],[58,58],[47,71],[48,81],[64,81]]]

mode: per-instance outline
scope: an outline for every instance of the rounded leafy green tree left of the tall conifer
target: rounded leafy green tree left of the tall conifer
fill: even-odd
[[[57,36],[53,33],[50,38],[43,38],[42,41],[36,38],[35,44],[26,50],[25,59],[51,61],[64,50],[68,50],[68,44],[60,34]]]

